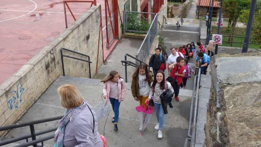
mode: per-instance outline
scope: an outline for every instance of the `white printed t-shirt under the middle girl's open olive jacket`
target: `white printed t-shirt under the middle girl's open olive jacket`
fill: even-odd
[[[149,88],[146,75],[141,75],[139,73],[139,96],[147,97],[149,95]]]

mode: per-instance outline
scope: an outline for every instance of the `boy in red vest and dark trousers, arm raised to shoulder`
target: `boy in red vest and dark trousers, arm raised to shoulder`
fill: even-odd
[[[175,100],[179,102],[179,86],[185,76],[186,69],[184,67],[185,61],[183,57],[177,57],[176,62],[177,63],[171,64],[169,68],[173,68],[170,76],[175,79],[175,87],[173,87],[175,91]]]

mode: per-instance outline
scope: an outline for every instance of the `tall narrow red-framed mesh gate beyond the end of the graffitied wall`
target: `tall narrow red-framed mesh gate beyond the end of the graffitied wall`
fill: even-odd
[[[114,16],[113,16],[113,0],[104,0],[105,2],[105,23],[106,23],[106,49],[115,38],[114,32]]]

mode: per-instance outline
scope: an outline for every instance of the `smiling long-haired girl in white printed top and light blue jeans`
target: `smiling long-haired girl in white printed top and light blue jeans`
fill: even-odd
[[[165,74],[162,70],[157,71],[156,75],[154,76],[154,80],[151,83],[151,88],[149,91],[149,97],[146,101],[149,101],[153,96],[153,102],[155,105],[156,116],[157,116],[157,125],[154,127],[155,130],[158,131],[158,138],[162,138],[162,128],[164,124],[164,111],[161,105],[160,95],[167,90],[171,90],[173,93],[174,90],[171,84],[165,81]]]

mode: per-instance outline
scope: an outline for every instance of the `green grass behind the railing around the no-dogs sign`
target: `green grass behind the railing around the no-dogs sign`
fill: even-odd
[[[211,33],[210,34],[217,34],[217,26],[211,26]],[[234,36],[238,37],[245,37],[245,32],[246,28],[235,28],[235,34]],[[227,30],[227,27],[222,27],[220,28],[220,34],[224,36],[229,36],[229,31]],[[222,37],[223,41],[228,41],[228,37]],[[244,38],[238,38],[234,37],[234,42],[244,42]],[[251,35],[251,37],[253,37]],[[249,43],[256,43],[254,39],[250,39]],[[230,42],[222,42],[222,46],[230,46]],[[243,47],[243,43],[233,43],[233,47]],[[249,48],[254,48],[254,49],[260,49],[260,45],[254,45],[254,44],[249,44]]]

